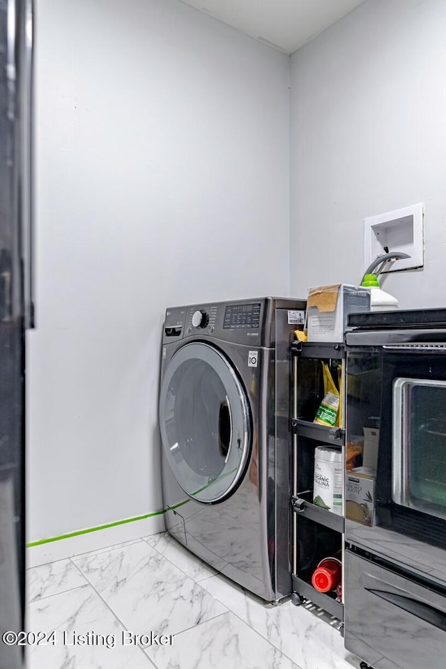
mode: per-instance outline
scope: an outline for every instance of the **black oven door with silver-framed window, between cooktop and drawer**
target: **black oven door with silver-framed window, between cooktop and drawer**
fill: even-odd
[[[446,548],[446,353],[348,348],[346,406],[348,442],[379,430],[372,524]]]

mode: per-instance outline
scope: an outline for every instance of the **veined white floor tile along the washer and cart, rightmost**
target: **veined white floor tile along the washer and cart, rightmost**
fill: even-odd
[[[203,580],[201,585],[302,669],[359,666],[346,651],[339,631],[305,607],[293,606],[291,601],[265,604],[222,576]]]

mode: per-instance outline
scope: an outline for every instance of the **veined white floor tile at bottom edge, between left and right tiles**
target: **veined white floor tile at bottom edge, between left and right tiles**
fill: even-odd
[[[157,669],[300,669],[230,612],[145,652]]]

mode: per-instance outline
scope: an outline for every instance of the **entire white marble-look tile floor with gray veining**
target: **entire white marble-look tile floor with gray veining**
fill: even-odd
[[[27,669],[359,667],[326,615],[263,603],[165,532],[27,573],[26,631],[47,641]]]

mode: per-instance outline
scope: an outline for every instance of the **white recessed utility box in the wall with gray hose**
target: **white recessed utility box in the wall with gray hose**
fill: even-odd
[[[364,267],[380,255],[401,251],[410,258],[387,263],[384,272],[413,270],[423,266],[423,205],[389,211],[364,219]]]

